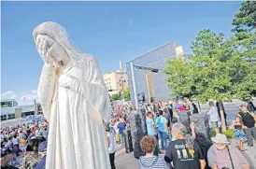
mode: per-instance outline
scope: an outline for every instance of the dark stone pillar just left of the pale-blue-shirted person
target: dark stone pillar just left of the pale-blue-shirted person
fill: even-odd
[[[134,148],[134,156],[135,158],[139,158],[143,156],[143,151],[141,150],[139,144],[140,140],[144,136],[144,132],[142,130],[142,122],[141,122],[141,115],[140,110],[133,111],[129,116],[130,125],[131,125],[131,134],[132,134],[132,142]]]

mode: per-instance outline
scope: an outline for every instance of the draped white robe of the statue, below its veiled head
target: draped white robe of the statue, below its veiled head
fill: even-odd
[[[46,70],[40,77],[39,100],[50,120],[46,168],[110,169],[103,122],[111,112],[107,89],[92,56],[82,55],[78,63],[64,71],[73,79],[66,84]],[[52,102],[44,95],[50,78],[56,79]]]

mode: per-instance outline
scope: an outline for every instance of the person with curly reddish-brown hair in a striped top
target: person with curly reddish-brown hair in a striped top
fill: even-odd
[[[140,141],[140,148],[145,152],[145,156],[139,158],[140,169],[167,169],[164,160],[159,156],[154,156],[156,147],[153,136],[144,136]]]

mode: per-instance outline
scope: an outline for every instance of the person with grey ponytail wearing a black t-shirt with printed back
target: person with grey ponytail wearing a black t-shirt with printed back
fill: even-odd
[[[205,157],[201,148],[192,139],[186,137],[186,127],[181,123],[172,126],[172,141],[165,151],[164,161],[175,169],[204,169]],[[173,166],[171,165],[173,162]]]

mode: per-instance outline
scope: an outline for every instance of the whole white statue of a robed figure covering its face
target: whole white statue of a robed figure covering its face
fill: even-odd
[[[79,53],[58,23],[41,23],[33,35],[45,62],[38,97],[50,122],[46,168],[110,169],[104,121],[111,107],[97,61]]]

